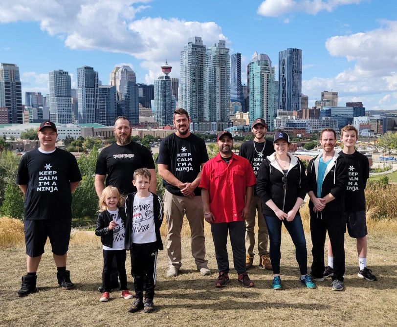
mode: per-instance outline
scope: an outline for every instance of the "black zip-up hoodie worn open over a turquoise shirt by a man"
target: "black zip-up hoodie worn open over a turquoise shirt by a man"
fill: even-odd
[[[348,171],[345,159],[338,153],[334,153],[331,162],[327,166],[324,174],[321,195],[317,195],[317,175],[318,165],[322,153],[314,157],[309,162],[308,181],[309,190],[313,191],[314,196],[324,197],[331,193],[335,197],[331,202],[327,203],[325,208],[317,214],[318,218],[331,218],[330,216],[341,215],[345,211],[345,191],[348,183]],[[309,201],[310,212],[313,212],[314,204]]]

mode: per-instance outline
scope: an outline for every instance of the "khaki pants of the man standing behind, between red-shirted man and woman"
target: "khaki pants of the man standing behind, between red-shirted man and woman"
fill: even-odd
[[[251,257],[254,256],[255,245],[255,216],[258,211],[258,254],[262,256],[269,254],[267,251],[267,244],[269,243],[269,235],[267,233],[267,226],[265,217],[262,214],[262,200],[259,196],[252,196],[251,212],[249,217],[245,220],[245,253]]]

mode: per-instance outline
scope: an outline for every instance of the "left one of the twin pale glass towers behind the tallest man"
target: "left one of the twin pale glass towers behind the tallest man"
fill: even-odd
[[[186,109],[193,131],[204,121],[205,45],[200,37],[191,37],[180,53],[179,107]]]

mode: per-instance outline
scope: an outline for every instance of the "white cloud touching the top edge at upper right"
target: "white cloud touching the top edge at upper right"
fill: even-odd
[[[265,0],[257,13],[267,17],[279,17],[289,13],[303,12],[316,15],[320,11],[331,12],[338,6],[357,4],[362,0]],[[289,22],[288,20],[285,22]]]

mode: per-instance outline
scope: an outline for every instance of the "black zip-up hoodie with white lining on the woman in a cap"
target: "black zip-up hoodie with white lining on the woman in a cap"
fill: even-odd
[[[284,190],[284,172],[278,164],[275,153],[266,157],[259,168],[256,180],[257,194],[262,198],[262,212],[266,216],[275,216],[266,202],[273,200],[274,204],[287,213],[292,210],[298,197],[304,199],[308,190],[305,167],[302,162],[290,153],[290,164],[287,172],[287,190]],[[296,213],[299,215],[299,210]]]

